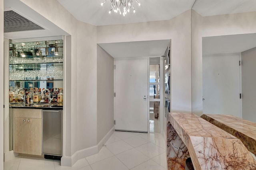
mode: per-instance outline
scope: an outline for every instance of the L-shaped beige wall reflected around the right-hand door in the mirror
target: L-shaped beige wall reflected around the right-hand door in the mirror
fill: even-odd
[[[192,33],[192,112],[202,115],[202,37],[256,33],[256,12],[207,17],[194,12],[192,18],[195,28],[202,27],[202,31]]]

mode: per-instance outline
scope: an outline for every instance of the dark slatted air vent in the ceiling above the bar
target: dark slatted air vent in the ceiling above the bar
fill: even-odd
[[[44,29],[14,11],[4,11],[4,33]]]

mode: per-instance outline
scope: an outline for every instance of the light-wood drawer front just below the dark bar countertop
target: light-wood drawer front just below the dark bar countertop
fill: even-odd
[[[14,117],[42,118],[41,109],[13,109]]]

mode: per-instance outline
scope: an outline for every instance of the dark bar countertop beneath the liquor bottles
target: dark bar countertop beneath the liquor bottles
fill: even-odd
[[[62,110],[63,109],[63,105],[62,104],[50,104],[50,106],[47,106],[47,104],[42,104],[44,106],[40,106],[41,104],[35,105],[35,104],[23,104],[23,103],[10,103],[9,107],[10,108],[30,108],[30,109],[49,109],[49,110]]]

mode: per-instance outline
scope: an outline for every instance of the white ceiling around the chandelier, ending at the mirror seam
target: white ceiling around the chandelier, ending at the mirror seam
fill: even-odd
[[[111,13],[110,0],[103,6],[104,0],[58,0],[77,20],[92,25],[114,25],[147,21],[170,20],[190,10],[195,0],[138,0],[134,1],[136,13],[132,11],[126,16]]]

